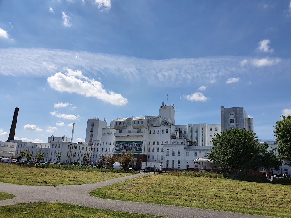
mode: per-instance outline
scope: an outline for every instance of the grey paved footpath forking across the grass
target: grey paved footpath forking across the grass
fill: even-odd
[[[88,192],[99,187],[112,185],[126,179],[143,176],[143,174],[134,174],[131,176],[114,178],[98,183],[84,185],[65,185],[65,186],[27,186],[15,185],[0,182],[0,192],[6,192],[16,195],[16,198],[0,201],[0,206],[17,203],[29,202],[67,202],[81,206],[118,210],[130,213],[149,214],[173,218],[258,218],[265,216],[255,216],[248,214],[229,213],[217,210],[205,210],[180,206],[168,206],[151,203],[137,203],[129,201],[116,201],[109,199],[96,198]],[[59,188],[59,189],[57,189]]]

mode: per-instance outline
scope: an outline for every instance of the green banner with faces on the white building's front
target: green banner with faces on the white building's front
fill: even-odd
[[[118,141],[115,142],[114,153],[137,153],[143,152],[143,141]]]

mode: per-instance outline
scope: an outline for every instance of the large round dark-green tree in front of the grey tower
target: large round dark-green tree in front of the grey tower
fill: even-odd
[[[237,128],[224,130],[221,135],[215,133],[209,158],[221,164],[224,174],[231,169],[234,174],[243,170],[246,175],[248,170],[261,165],[259,159],[264,148],[256,138],[255,133]]]

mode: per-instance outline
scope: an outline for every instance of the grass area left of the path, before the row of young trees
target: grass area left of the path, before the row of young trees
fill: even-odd
[[[0,182],[19,185],[79,185],[132,175],[112,172],[29,168],[5,163],[0,163],[0,169]]]

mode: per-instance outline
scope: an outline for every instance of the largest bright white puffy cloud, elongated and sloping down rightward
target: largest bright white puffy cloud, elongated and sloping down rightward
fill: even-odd
[[[54,76],[47,78],[49,85],[59,92],[69,92],[84,95],[86,97],[95,97],[106,103],[113,105],[125,105],[127,99],[113,91],[107,93],[102,84],[95,79],[89,79],[83,76],[82,72],[67,69],[67,73],[56,73]],[[82,80],[84,79],[84,80]]]

